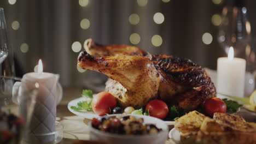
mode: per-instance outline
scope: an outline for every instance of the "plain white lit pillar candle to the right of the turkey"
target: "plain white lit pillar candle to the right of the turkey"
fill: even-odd
[[[231,46],[228,57],[218,58],[217,92],[236,97],[243,97],[245,89],[245,71],[245,59],[234,58],[234,49]]]

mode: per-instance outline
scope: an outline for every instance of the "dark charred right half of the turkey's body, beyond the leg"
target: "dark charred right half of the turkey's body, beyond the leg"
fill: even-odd
[[[206,99],[215,97],[216,88],[210,77],[190,59],[166,55],[148,57],[161,75],[159,96],[168,104],[193,110]]]

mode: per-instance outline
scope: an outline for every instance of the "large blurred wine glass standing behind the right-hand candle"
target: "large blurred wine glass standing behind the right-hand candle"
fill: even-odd
[[[236,57],[245,57],[245,48],[251,39],[251,25],[247,20],[244,5],[226,6],[222,11],[222,25],[219,26],[218,42],[228,54],[234,47]]]

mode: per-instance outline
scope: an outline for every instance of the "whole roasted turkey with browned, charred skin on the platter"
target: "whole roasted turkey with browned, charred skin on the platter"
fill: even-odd
[[[122,107],[139,108],[159,98],[189,111],[216,96],[206,71],[189,59],[150,55],[129,45],[98,45],[92,39],[84,47],[78,56],[79,67],[109,76],[106,91]]]

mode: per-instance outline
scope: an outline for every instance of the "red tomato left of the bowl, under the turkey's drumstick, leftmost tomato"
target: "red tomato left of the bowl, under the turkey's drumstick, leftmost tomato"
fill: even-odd
[[[100,92],[92,98],[91,107],[98,116],[110,113],[109,108],[113,109],[115,106],[117,106],[117,100],[108,92]]]

